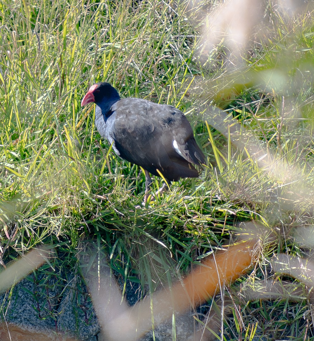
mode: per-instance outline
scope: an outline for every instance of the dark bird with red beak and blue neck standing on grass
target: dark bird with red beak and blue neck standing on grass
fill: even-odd
[[[144,169],[145,204],[152,183],[150,174],[162,175],[168,184],[199,176],[193,164],[205,164],[205,157],[181,110],[140,98],[121,98],[106,82],[89,88],[81,106],[88,103],[96,104],[95,125],[115,153]],[[165,185],[157,192],[162,192]]]

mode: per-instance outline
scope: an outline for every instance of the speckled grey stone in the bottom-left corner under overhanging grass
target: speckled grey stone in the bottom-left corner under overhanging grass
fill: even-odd
[[[95,311],[82,279],[77,281],[77,275],[69,274],[67,281],[50,274],[32,274],[2,294],[5,322],[48,336],[58,331],[93,340],[100,329]]]

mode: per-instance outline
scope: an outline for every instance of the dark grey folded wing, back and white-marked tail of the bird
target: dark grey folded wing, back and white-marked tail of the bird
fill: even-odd
[[[127,161],[169,180],[197,177],[190,163],[204,162],[192,128],[180,110],[141,99],[122,99],[112,106],[114,115],[107,124],[114,124],[108,140]]]

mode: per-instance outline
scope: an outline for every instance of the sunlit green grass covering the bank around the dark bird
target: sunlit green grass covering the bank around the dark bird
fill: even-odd
[[[294,234],[313,224],[311,12],[288,20],[268,7],[269,27],[239,70],[229,67],[226,46],[205,62],[201,58],[201,6],[0,4],[2,265],[52,243],[62,262],[74,267],[80,242],[96,238],[123,281],[140,281],[154,291],[227,244],[237,225],[252,219],[276,231],[278,244],[264,249],[259,267],[241,286],[273,279],[273,254],[310,254]],[[155,203],[136,209],[144,175],[110,151],[94,125],[92,106],[80,106],[88,87],[101,80],[124,97],[183,110],[208,157],[201,177],[176,182]],[[219,130],[215,113],[224,115],[220,129],[226,122],[233,128]],[[252,146],[273,159],[255,159]],[[153,189],[160,186],[154,179]],[[241,314],[234,303],[234,317],[224,322],[226,339],[238,339],[242,325],[249,330],[252,321],[258,323],[253,335],[313,337],[311,318],[303,316],[309,300],[243,304],[230,296]]]

